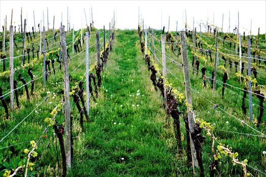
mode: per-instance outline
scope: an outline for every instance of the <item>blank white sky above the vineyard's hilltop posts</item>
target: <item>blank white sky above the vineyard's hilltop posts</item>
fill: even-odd
[[[70,14],[70,26],[74,24],[74,29],[86,25],[84,8],[87,14],[88,23],[90,21],[89,9],[92,7],[94,26],[97,28],[109,27],[109,22],[113,18],[113,11],[117,12],[117,27],[120,29],[136,29],[138,24],[138,7],[144,19],[144,25],[161,29],[161,18],[163,26],[168,27],[168,17],[170,16],[170,29],[175,31],[176,21],[178,30],[184,28],[185,9],[187,24],[193,27],[193,17],[195,17],[195,27],[199,31],[200,21],[221,27],[222,14],[223,31],[229,28],[229,11],[231,14],[231,32],[238,24],[238,11],[240,15],[240,32],[246,31],[249,34],[250,20],[252,19],[252,34],[257,34],[258,27],[260,33],[265,33],[266,29],[266,1],[7,1],[0,0],[0,31],[4,25],[7,15],[7,26],[11,22],[11,10],[13,8],[13,25],[20,24],[20,8],[22,7],[23,23],[27,18],[27,31],[34,26],[33,10],[35,13],[35,24],[43,19],[45,15],[45,26],[47,28],[47,7],[49,9],[49,28],[53,28],[53,16],[55,15],[55,28],[60,26],[61,12],[63,13],[63,25],[67,26],[67,7]],[[9,27],[7,27],[9,29]],[[205,28],[202,27],[202,31]]]

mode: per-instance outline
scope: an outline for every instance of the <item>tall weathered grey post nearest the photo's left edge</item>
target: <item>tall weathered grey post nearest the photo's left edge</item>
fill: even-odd
[[[13,71],[13,40],[14,40],[14,36],[13,36],[13,26],[10,25],[9,28],[10,31],[10,37],[9,37],[9,70],[10,70],[10,74],[9,74],[9,83],[10,83],[10,108],[11,111],[14,111],[14,71]]]

